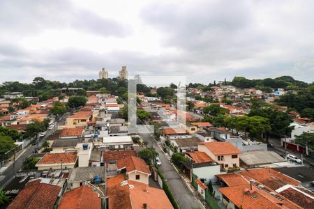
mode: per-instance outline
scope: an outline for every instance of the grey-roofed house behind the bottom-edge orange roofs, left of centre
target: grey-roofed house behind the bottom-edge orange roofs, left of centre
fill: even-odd
[[[72,190],[82,185],[91,183],[98,186],[106,180],[106,169],[104,167],[79,167],[70,169],[68,173],[68,189]],[[87,182],[87,183],[86,183]]]

